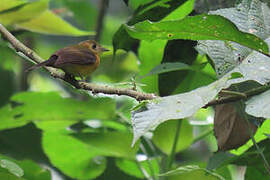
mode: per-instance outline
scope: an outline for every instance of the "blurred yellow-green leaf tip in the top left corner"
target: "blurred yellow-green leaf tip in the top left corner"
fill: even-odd
[[[17,11],[1,13],[0,22],[7,26],[29,21],[48,9],[48,2],[49,0],[40,0],[33,3],[28,3],[19,8]]]

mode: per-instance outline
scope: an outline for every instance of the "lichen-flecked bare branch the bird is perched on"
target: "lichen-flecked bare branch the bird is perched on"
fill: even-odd
[[[21,43],[16,37],[14,37],[2,24],[0,24],[0,34],[4,40],[7,40],[11,46],[16,50],[17,53],[22,53],[26,57],[30,58],[36,63],[44,61],[37,53],[35,53],[30,48],[26,47]],[[132,89],[125,88],[115,88],[104,85],[96,85],[92,83],[80,82],[75,79],[70,79],[65,76],[65,73],[57,71],[55,68],[44,67],[47,71],[50,72],[51,76],[57,79],[62,79],[63,81],[71,84],[77,89],[84,89],[92,91],[93,93],[104,93],[104,94],[114,94],[114,95],[125,95],[132,97],[138,101],[141,100],[151,100],[156,98],[154,94],[142,93]]]

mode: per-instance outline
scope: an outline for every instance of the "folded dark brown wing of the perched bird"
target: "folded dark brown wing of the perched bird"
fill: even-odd
[[[95,64],[97,57],[87,48],[66,47],[55,52],[58,56],[54,66],[65,64],[90,65]]]

